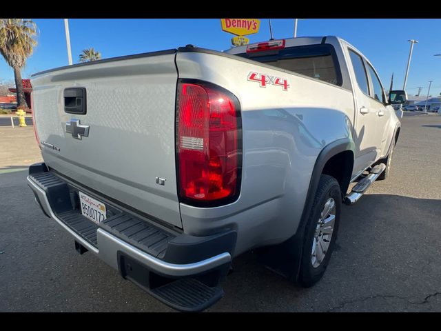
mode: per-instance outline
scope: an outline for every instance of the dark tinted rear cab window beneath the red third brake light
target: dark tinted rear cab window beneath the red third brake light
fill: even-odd
[[[327,43],[236,55],[342,86],[336,52],[334,47]]]

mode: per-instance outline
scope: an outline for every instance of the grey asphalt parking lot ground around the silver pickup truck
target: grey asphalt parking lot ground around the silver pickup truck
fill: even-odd
[[[172,312],[74,241],[34,203],[25,168],[0,170],[0,311]],[[402,119],[392,172],[343,206],[325,277],[302,289],[253,252],[212,312],[441,311],[441,116]]]

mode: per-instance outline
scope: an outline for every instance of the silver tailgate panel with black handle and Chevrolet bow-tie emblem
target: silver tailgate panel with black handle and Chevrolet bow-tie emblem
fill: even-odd
[[[35,125],[50,168],[181,228],[175,170],[175,53],[167,50],[49,70],[36,74],[32,86]],[[85,114],[65,112],[68,88],[85,89]],[[73,133],[66,132],[72,119],[89,128],[88,137],[77,135],[87,133],[76,130],[78,126]],[[164,185],[156,183],[156,177],[165,179]]]

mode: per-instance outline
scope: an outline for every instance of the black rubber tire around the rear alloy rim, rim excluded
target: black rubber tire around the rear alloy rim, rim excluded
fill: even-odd
[[[325,252],[324,259],[318,266],[314,267],[313,262],[311,261],[311,249],[316,234],[316,228],[318,226],[318,221],[320,219],[320,214],[329,198],[334,199],[336,206],[334,230],[331,236],[329,247]],[[323,274],[325,274],[329,259],[331,258],[332,251],[334,250],[334,245],[338,232],[338,225],[340,223],[341,205],[342,196],[338,181],[334,177],[322,174],[320,176],[318,188],[314,197],[314,203],[312,204],[311,212],[309,213],[309,219],[307,220],[307,223],[305,225],[305,236],[302,246],[302,257],[300,261],[300,274],[298,277],[298,283],[302,287],[309,288],[310,286],[317,283],[322,278]]]

